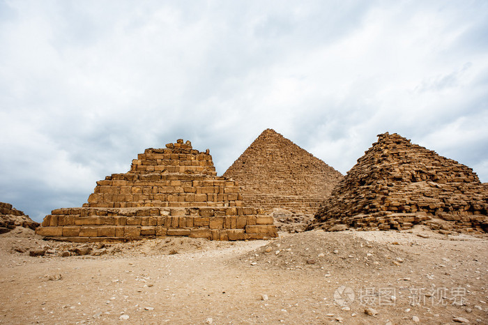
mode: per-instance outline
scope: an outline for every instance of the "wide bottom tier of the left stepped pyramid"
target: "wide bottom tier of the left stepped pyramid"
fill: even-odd
[[[277,237],[273,217],[248,207],[70,208],[46,216],[36,234],[63,241],[188,236],[218,241]]]

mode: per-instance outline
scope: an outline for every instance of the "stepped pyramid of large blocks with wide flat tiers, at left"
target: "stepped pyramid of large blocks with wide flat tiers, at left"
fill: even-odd
[[[69,241],[190,236],[212,240],[276,237],[273,218],[243,206],[236,181],[216,176],[208,149],[178,139],[146,149],[130,171],[98,181],[81,208],[56,209],[36,233]]]

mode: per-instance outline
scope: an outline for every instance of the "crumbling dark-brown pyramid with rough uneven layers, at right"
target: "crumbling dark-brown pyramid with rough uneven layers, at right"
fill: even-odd
[[[312,227],[488,232],[488,186],[473,170],[399,135],[378,135],[321,206]],[[342,226],[344,227],[344,226]]]

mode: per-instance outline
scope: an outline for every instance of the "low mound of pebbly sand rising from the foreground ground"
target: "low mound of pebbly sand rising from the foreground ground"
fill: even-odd
[[[326,276],[347,269],[378,270],[400,266],[411,258],[388,245],[365,241],[351,232],[303,232],[281,236],[239,257],[250,266],[286,270],[319,269]]]

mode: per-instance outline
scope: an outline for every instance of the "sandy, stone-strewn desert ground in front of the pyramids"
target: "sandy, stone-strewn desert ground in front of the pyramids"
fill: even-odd
[[[488,324],[488,236],[168,238],[61,257],[75,246],[0,235],[1,324]]]

